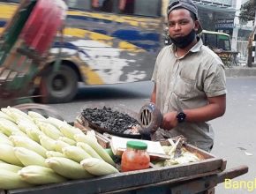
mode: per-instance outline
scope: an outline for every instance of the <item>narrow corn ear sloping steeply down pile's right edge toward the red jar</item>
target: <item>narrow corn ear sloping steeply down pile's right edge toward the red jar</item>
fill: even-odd
[[[115,162],[111,159],[108,153],[105,152],[105,150],[102,148],[101,145],[98,144],[98,142],[95,142],[93,138],[87,136],[87,135],[75,135],[74,138],[77,142],[83,142],[87,145],[91,146],[96,153],[98,153],[103,160],[111,164],[112,166],[115,166]]]

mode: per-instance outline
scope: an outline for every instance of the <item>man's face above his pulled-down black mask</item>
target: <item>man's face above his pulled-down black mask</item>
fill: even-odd
[[[189,34],[192,29],[198,31],[199,23],[192,19],[191,13],[185,9],[170,11],[168,17],[169,36],[177,38]]]

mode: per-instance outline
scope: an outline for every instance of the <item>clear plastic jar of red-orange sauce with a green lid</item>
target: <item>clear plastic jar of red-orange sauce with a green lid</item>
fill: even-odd
[[[122,172],[149,168],[150,157],[147,144],[140,141],[128,141],[122,154]]]

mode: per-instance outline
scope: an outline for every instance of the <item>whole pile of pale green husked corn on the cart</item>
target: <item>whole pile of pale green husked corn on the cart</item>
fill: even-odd
[[[118,173],[94,132],[17,108],[0,111],[0,189]]]

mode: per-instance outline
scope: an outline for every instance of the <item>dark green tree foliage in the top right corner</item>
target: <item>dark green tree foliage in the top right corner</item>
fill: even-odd
[[[256,11],[256,0],[249,0],[242,4],[239,18],[244,21],[254,21]]]

